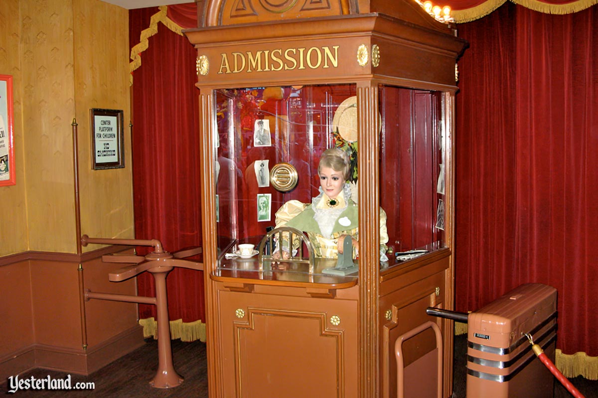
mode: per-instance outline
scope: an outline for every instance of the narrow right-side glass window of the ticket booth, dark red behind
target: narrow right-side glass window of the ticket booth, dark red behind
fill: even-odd
[[[392,265],[445,246],[444,105],[438,91],[379,90],[380,206]]]

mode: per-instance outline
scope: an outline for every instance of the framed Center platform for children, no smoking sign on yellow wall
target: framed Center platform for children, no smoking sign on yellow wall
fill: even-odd
[[[91,168],[93,170],[124,167],[123,111],[90,109]]]

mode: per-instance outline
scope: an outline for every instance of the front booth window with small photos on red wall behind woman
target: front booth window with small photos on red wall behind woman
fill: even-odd
[[[289,200],[319,194],[318,164],[333,148],[335,111],[356,95],[354,84],[237,88],[215,91],[216,222],[219,249],[257,239],[275,226]],[[280,164],[297,170],[289,191],[275,188]]]

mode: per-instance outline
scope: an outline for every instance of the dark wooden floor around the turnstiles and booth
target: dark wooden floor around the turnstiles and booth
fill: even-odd
[[[454,395],[453,398],[465,398],[466,379],[466,344],[465,335],[455,338],[454,359]],[[157,369],[157,344],[154,340],[147,340],[144,347],[122,357],[89,376],[72,375],[72,383],[94,382],[94,390],[86,391],[50,391],[50,390],[21,390],[15,393],[19,397],[35,398],[87,398],[87,397],[131,397],[131,398],[161,398],[161,397],[208,397],[208,380],[206,376],[206,345],[196,341],[191,343],[172,341],[173,362],[176,371],[184,376],[185,381],[179,387],[160,390],[150,387],[148,381]],[[65,378],[67,373],[35,369],[22,375],[24,378]],[[576,388],[585,398],[598,398],[598,381],[590,381],[581,377],[571,379]],[[0,385],[0,393],[6,393],[9,385],[6,381]],[[8,394],[7,394],[8,395]],[[11,394],[13,395],[13,394]],[[571,395],[559,382],[555,382],[554,398],[566,398]],[[226,397],[228,398],[228,397]],[[284,397],[260,397],[284,398]],[[320,397],[311,397],[320,398]],[[328,398],[328,397],[322,397]],[[417,397],[414,397],[417,398]],[[474,398],[474,397],[469,397]]]

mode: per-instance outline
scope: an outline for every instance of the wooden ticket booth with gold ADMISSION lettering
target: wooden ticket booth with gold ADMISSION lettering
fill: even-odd
[[[465,41],[413,0],[206,0],[200,14],[185,35],[200,90],[210,397],[396,396],[395,341],[428,321],[450,396],[453,323],[426,308],[453,309]],[[328,148],[350,159],[358,270],[263,261],[277,210],[318,195]],[[240,255],[244,243],[255,253]],[[405,366],[435,346],[433,330],[417,333]],[[420,363],[422,375],[437,366]]]

